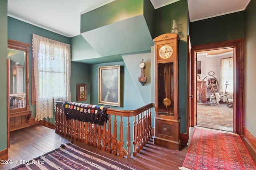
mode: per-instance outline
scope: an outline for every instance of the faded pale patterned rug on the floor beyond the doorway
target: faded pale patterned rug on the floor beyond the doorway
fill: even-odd
[[[197,105],[197,122],[233,127],[233,108]]]

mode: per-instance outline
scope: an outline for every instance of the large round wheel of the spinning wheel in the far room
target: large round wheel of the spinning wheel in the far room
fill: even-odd
[[[213,88],[212,88],[213,87]],[[218,80],[214,76],[206,76],[201,83],[201,89],[202,89],[202,94],[206,98],[210,98],[212,95],[212,89],[214,92],[218,92],[219,89],[219,83]]]

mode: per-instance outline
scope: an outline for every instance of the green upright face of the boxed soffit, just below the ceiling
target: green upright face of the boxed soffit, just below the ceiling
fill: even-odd
[[[80,33],[143,14],[143,0],[116,0],[81,15]]]

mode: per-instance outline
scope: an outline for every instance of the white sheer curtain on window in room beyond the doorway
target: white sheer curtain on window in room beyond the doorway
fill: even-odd
[[[233,57],[220,60],[220,94],[225,93],[226,83],[229,94],[228,99],[233,97]],[[223,101],[226,102],[226,97],[223,97]]]

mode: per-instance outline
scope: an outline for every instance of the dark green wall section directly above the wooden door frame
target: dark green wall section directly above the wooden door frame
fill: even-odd
[[[191,45],[244,38],[244,11],[190,23]]]

